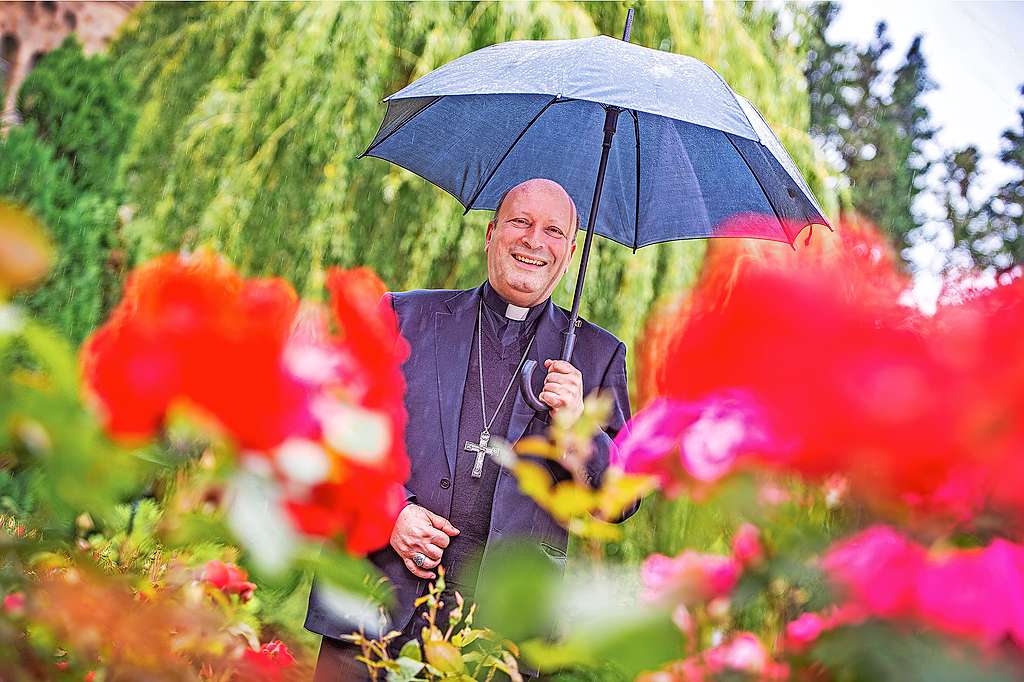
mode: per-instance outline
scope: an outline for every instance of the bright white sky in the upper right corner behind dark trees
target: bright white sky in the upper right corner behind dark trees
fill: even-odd
[[[1011,174],[996,155],[1002,131],[1019,125],[1017,111],[1024,108],[1024,1],[982,2],[948,0],[848,0],[830,28],[834,41],[864,44],[873,37],[880,20],[888,25],[893,43],[889,61],[897,68],[915,35],[929,75],[937,88],[925,96],[932,121],[940,130],[931,148],[943,151],[975,144],[984,155],[978,184],[990,195]],[[916,207],[933,219],[941,213],[934,199]],[[940,224],[934,222],[933,224]],[[952,244],[948,229],[940,228],[936,243],[919,244],[910,251],[914,263],[915,303],[934,309],[939,295],[939,272],[946,262],[943,248]]]

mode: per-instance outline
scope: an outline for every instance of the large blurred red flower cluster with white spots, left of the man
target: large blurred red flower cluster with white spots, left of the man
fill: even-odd
[[[250,549],[285,527],[267,500],[295,529],[360,554],[387,543],[404,500],[407,346],[372,272],[333,270],[328,288],[330,311],[300,308],[283,280],[244,279],[206,251],[164,256],[130,275],[82,351],[114,435],[152,437],[183,408],[238,446],[249,477],[234,486],[236,518]],[[246,492],[252,476],[258,494]]]

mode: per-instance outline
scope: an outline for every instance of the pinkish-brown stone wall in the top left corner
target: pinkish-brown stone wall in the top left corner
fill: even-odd
[[[0,128],[17,123],[17,88],[39,58],[72,33],[87,54],[106,47],[138,2],[9,2],[0,0]]]

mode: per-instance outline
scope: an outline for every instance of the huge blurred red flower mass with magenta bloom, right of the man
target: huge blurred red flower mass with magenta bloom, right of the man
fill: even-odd
[[[715,245],[621,466],[670,493],[752,465],[842,474],[889,515],[1024,520],[1024,280],[928,315],[877,232],[841,238],[753,258]]]

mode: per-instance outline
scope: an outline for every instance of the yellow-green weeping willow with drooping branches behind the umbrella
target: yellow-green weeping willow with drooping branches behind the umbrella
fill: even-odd
[[[624,16],[620,3],[146,6],[115,46],[142,102],[123,160],[133,258],[210,245],[307,293],[332,264],[371,265],[394,289],[474,286],[488,216],[464,217],[412,173],[356,160],[381,98],[485,45],[614,34]],[[820,194],[800,57],[774,14],[651,3],[633,36],[718,69]],[[689,242],[633,255],[598,240],[584,315],[632,341],[652,303],[692,281],[702,253]],[[555,294],[563,305],[571,280]]]

